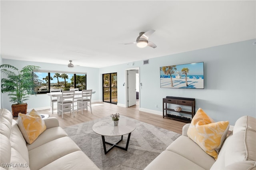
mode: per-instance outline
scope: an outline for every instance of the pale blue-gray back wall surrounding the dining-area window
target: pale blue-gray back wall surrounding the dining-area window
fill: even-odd
[[[72,71],[72,72],[84,72],[87,73],[87,89],[92,89],[96,93],[92,95],[92,101],[100,101],[100,83],[99,83],[99,69],[92,67],[74,67],[72,69],[68,68],[67,65],[61,64],[51,64],[51,63],[39,63],[30,61],[20,61],[20,60],[10,60],[3,59],[2,64],[10,64],[18,69],[26,65],[36,65],[39,66],[41,70],[52,70],[52,71]],[[12,110],[12,104],[9,102],[9,97],[7,93],[2,94],[2,108]],[[48,109],[50,108],[50,97],[46,94],[31,95],[28,101],[28,111],[30,109]]]

